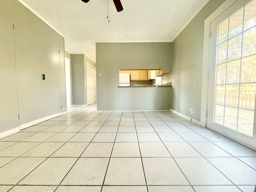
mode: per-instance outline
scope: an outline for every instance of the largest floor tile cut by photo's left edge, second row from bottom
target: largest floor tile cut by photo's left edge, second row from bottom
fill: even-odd
[[[0,177],[0,183],[2,185],[17,184],[45,159],[39,157],[19,157],[14,159],[0,168],[0,175],[4,175],[4,177]]]

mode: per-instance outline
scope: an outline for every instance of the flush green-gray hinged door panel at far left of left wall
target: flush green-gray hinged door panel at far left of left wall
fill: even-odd
[[[19,126],[13,2],[0,1],[0,132]]]

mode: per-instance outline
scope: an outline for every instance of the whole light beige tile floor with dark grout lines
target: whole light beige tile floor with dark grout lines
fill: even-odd
[[[253,192],[256,152],[170,111],[96,104],[0,140],[0,192]]]

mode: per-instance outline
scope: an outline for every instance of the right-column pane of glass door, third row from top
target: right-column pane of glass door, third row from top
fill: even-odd
[[[256,82],[256,56],[242,59],[241,82]]]

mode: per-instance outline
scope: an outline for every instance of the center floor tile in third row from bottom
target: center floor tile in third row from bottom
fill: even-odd
[[[114,144],[111,157],[140,157],[140,149],[138,142],[116,142]]]

